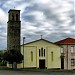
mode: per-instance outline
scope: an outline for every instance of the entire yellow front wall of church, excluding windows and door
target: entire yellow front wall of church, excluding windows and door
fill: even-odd
[[[45,57],[39,57],[39,49],[45,49]],[[30,52],[33,52],[33,62],[31,62]],[[21,52],[23,54],[23,46],[21,46]],[[51,52],[53,52],[54,60],[51,61]],[[60,47],[50,42],[40,40],[24,45],[24,67],[36,67],[39,68],[39,60],[45,59],[45,67],[49,68],[61,68],[60,59]],[[23,67],[23,63],[21,63]]]

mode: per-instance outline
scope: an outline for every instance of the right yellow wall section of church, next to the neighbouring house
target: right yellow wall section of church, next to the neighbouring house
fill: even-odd
[[[60,47],[49,46],[47,49],[48,49],[47,68],[61,68]],[[51,52],[53,52],[53,60]]]

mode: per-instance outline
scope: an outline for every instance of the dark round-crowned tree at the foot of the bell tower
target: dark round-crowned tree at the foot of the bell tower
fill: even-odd
[[[3,59],[9,64],[12,64],[12,68],[14,68],[14,63],[16,63],[15,68],[17,68],[17,64],[21,63],[23,60],[23,55],[20,51],[12,49],[4,53]]]

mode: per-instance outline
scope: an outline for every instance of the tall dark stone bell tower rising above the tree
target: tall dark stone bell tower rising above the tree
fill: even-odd
[[[20,10],[10,9],[7,23],[7,50],[20,50]]]

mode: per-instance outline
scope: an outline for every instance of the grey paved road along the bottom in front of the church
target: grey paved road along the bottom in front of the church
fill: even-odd
[[[75,75],[75,72],[41,72],[41,71],[12,71],[0,70],[0,75]]]

